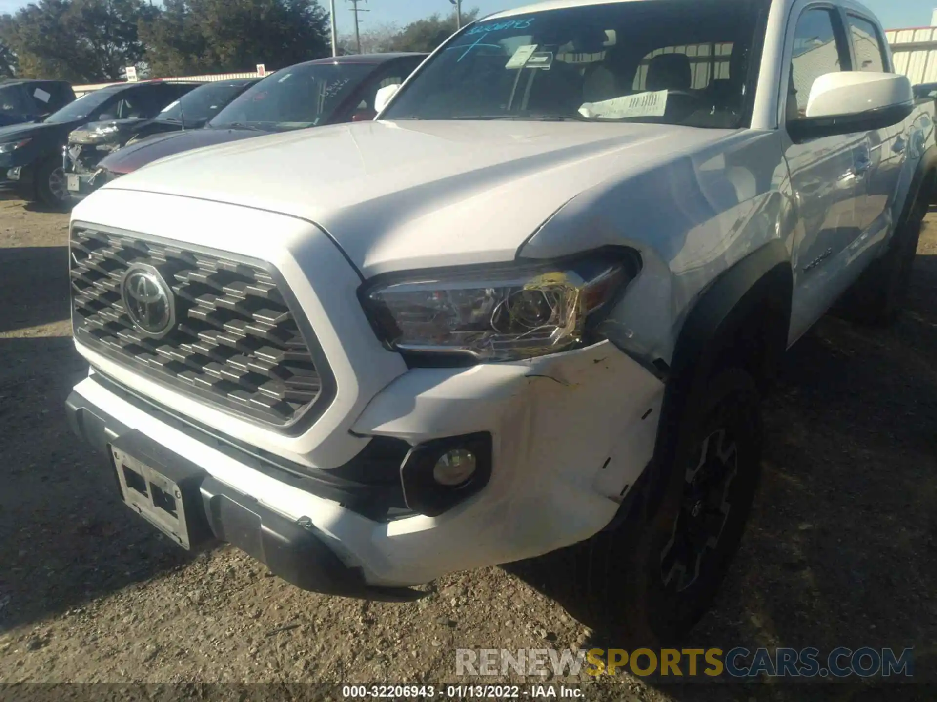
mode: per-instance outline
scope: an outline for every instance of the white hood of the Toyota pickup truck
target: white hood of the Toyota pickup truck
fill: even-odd
[[[170,156],[102,190],[300,217],[323,228],[369,277],[512,260],[543,222],[588,188],[732,133],[578,122],[336,124]]]

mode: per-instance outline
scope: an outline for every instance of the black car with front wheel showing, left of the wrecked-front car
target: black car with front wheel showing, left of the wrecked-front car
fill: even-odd
[[[82,95],[38,124],[0,128],[0,186],[52,208],[67,207],[71,198],[62,149],[72,130],[91,122],[152,119],[199,85],[157,80],[109,85]]]

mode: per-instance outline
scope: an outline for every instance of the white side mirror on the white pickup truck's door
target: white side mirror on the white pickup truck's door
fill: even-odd
[[[870,132],[899,124],[914,109],[915,93],[906,76],[827,73],[813,82],[807,115],[790,121],[787,130],[795,141]]]

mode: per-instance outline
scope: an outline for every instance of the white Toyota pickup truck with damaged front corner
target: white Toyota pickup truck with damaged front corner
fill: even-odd
[[[782,353],[896,314],[932,106],[852,0],[547,0],[392,92],[75,208],[73,428],[173,540],[301,588],[570,547],[602,617],[680,636]]]

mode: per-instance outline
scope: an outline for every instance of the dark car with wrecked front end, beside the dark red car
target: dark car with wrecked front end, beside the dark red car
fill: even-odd
[[[97,162],[125,144],[156,134],[204,126],[235,97],[259,78],[205,83],[173,100],[153,119],[111,120],[84,124],[68,135],[65,152],[67,188],[72,195],[86,194],[97,172]]]

